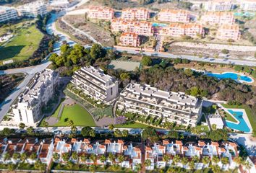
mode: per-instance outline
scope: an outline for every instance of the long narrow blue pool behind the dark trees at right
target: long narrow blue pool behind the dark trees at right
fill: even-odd
[[[212,77],[216,77],[218,79],[234,79],[237,80],[239,74],[235,74],[235,73],[225,73],[225,74],[213,74],[213,73],[207,73],[207,76],[212,76]],[[248,76],[241,76],[240,75],[240,81],[245,81],[245,82],[252,82],[252,78],[248,77]]]

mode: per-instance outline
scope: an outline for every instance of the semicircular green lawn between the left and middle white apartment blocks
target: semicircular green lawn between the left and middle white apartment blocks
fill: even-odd
[[[54,117],[58,116],[59,108],[54,112]],[[67,126],[69,120],[76,126],[96,126],[90,113],[80,105],[65,106],[61,119],[54,126]]]

